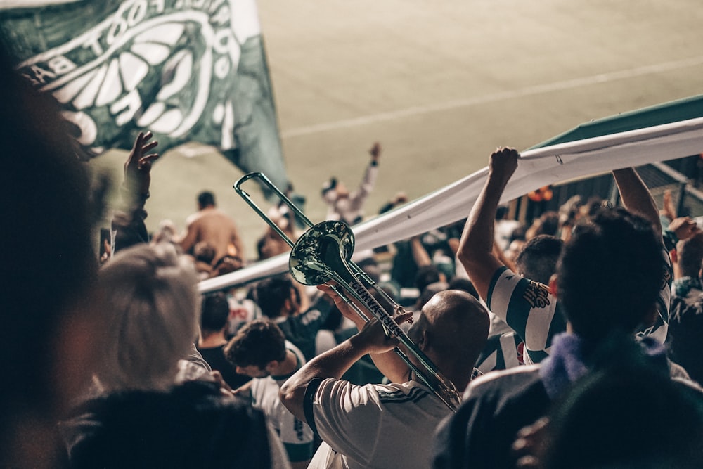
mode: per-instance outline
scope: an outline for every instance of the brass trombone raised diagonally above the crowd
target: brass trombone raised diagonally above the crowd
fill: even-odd
[[[304,224],[308,226],[307,231],[294,243],[280,227],[271,220],[259,206],[254,203],[251,196],[241,187],[250,179],[259,179],[266,184],[280,200],[283,201],[290,210]],[[394,337],[406,347],[408,353],[415,356],[421,366],[415,364],[406,352],[396,347],[394,351],[403,361],[415,372],[418,379],[423,381],[432,392],[446,404],[452,411],[456,412],[460,405],[459,392],[450,380],[444,378],[437,366],[415,345],[408,335],[402,330],[375,298],[369,293],[368,288],[373,288],[381,297],[390,304],[396,313],[404,313],[404,308],[397,304],[378,284],[373,281],[359,266],[352,262],[354,253],[354,233],[349,225],[343,221],[322,221],[318,224],[312,222],[303,212],[293,204],[290,199],[282,193],[271,180],[261,172],[252,172],[242,176],[235,184],[234,190],[245,200],[252,209],[266,221],[271,229],[278,233],[278,236],[288,243],[291,248],[288,258],[288,270],[296,281],[303,285],[321,285],[329,281],[335,281],[337,285],[331,285],[335,293],[340,295],[344,302],[347,302],[356,314],[368,322],[370,318],[361,310],[349,296],[363,304],[371,314],[378,319],[383,326],[386,335]],[[339,287],[339,288],[338,288]],[[341,288],[341,290],[340,290]],[[344,290],[344,291],[342,291]]]

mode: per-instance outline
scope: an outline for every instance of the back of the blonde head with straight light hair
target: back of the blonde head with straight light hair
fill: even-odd
[[[137,245],[100,271],[108,331],[98,378],[108,390],[165,389],[198,333],[198,277],[170,244]]]

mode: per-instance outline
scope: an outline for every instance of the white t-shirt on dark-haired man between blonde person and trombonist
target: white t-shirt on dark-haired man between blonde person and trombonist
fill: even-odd
[[[295,371],[305,363],[302,352],[286,341],[285,348],[293,352],[297,358]],[[295,373],[295,371],[293,373]],[[283,443],[288,459],[295,463],[299,461],[309,461],[312,456],[314,434],[307,423],[296,418],[288,409],[283,406],[278,397],[280,385],[290,378],[285,376],[267,376],[266,378],[254,378],[252,380],[252,405],[257,409],[262,409],[273,430],[276,430],[280,441]]]

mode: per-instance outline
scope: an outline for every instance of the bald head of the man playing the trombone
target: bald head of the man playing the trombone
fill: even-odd
[[[425,304],[408,335],[446,378],[463,390],[486,344],[488,330],[488,312],[475,297],[463,290],[444,290]]]

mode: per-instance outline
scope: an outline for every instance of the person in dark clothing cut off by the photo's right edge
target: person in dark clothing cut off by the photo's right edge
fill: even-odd
[[[677,220],[671,225],[678,224]],[[691,219],[687,224],[695,234],[679,241],[676,250],[671,251],[674,281],[666,347],[673,361],[683,366],[692,379],[703,383],[703,358],[699,354],[703,338],[703,233]]]

